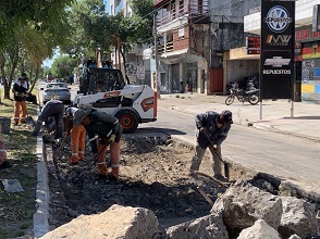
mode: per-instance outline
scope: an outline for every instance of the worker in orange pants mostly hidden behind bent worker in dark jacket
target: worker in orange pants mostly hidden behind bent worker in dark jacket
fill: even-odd
[[[85,159],[85,139],[86,139],[86,129],[79,125],[73,125],[73,118],[75,112],[78,111],[77,108],[69,106],[65,109],[66,115],[66,135],[71,135],[71,163],[77,164],[78,161]]]

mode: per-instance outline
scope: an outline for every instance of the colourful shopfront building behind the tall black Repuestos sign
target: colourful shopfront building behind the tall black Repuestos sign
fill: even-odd
[[[312,30],[313,7],[319,0],[295,2],[295,101],[320,103],[320,32]],[[259,7],[244,17],[244,30],[260,35]]]

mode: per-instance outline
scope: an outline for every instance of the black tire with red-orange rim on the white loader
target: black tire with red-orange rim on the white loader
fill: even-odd
[[[131,110],[121,110],[115,114],[115,117],[119,120],[119,123],[123,127],[124,134],[134,133],[139,124],[138,115]]]

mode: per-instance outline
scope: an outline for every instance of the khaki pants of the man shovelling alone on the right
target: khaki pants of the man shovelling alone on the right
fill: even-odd
[[[213,171],[213,176],[220,176],[222,175],[221,172],[221,160],[220,158],[216,154],[214,149],[212,146],[209,146],[209,150],[212,154],[212,171]],[[199,171],[201,161],[204,159],[204,155],[206,153],[206,149],[201,148],[199,146],[199,143],[196,143],[195,147],[195,155],[193,156],[192,160],[192,166],[190,166],[190,171],[195,172],[195,171]],[[221,156],[221,146],[217,146],[217,153]]]

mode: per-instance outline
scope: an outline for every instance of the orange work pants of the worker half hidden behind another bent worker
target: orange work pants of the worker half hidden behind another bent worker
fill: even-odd
[[[71,129],[71,162],[77,163],[78,160],[85,159],[85,137],[86,129],[83,125],[73,126]]]

